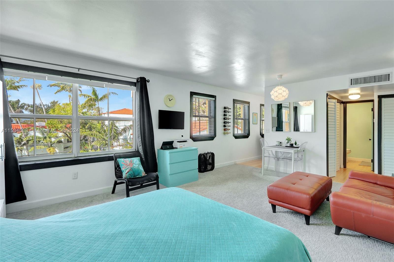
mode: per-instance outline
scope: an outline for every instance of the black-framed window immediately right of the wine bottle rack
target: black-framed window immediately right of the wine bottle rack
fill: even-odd
[[[249,105],[248,101],[232,100],[234,138],[248,138],[250,135]]]

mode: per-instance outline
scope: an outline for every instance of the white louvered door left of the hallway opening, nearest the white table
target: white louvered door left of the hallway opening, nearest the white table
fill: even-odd
[[[328,176],[336,175],[336,100],[328,99]]]

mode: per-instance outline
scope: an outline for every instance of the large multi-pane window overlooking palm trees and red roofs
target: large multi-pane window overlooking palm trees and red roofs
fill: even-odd
[[[20,161],[134,148],[134,87],[5,71],[9,132]]]

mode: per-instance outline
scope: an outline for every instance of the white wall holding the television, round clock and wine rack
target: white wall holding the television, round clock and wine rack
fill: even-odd
[[[261,148],[258,141],[261,138],[259,124],[251,124],[251,136],[247,139],[234,139],[232,135],[223,135],[222,109],[223,106],[232,107],[232,99],[234,98],[250,101],[250,113],[252,116],[253,112],[259,113],[260,103],[264,103],[263,96],[246,94],[211,85],[162,76],[146,71],[136,70],[123,65],[106,63],[104,61],[90,59],[83,56],[55,52],[54,50],[17,44],[15,42],[1,42],[0,44],[1,54],[4,55],[76,66],[125,76],[147,77],[147,79],[151,80],[151,82],[148,83],[148,89],[156,148],[160,148],[163,141],[172,140],[173,138],[178,138],[181,135],[184,135],[186,138],[190,137],[190,91],[216,95],[217,137],[213,141],[191,141],[190,146],[199,148],[199,153],[213,151],[216,157],[216,167],[261,157]],[[4,59],[4,61],[11,60]],[[24,61],[15,61],[15,63],[23,62]],[[36,65],[31,62],[26,62],[26,64]],[[39,64],[39,66],[43,65]],[[46,65],[44,67],[56,68],[55,66]],[[65,70],[64,68],[58,67],[56,69]],[[74,70],[74,72],[76,72],[76,70]],[[169,108],[164,105],[164,96],[166,94],[173,94],[175,96],[176,104],[174,107]],[[159,109],[184,111],[185,129],[159,130]],[[78,179],[71,179],[71,174],[73,172],[78,172]],[[78,197],[100,194],[101,192],[109,192],[114,178],[113,162],[47,168],[24,171],[21,173],[27,200],[7,205],[7,212],[15,212],[18,210],[58,203]]]

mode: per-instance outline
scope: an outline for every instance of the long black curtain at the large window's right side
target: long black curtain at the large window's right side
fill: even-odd
[[[151,105],[145,77],[139,77],[136,90],[136,149],[141,153],[147,168],[145,172],[157,172]]]

